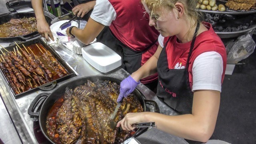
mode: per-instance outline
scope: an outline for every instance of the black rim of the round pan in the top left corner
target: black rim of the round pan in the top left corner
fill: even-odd
[[[30,18],[30,17],[35,17],[34,12],[20,12],[20,13],[5,13],[0,15],[0,24],[9,22],[12,18]],[[45,16],[46,22],[51,24],[51,19],[48,16]],[[22,36],[15,36],[15,37],[8,37],[8,38],[0,38],[0,42],[15,42],[15,41],[26,41],[28,39],[35,38],[39,36],[40,34],[38,31],[32,32],[30,34],[22,35]]]

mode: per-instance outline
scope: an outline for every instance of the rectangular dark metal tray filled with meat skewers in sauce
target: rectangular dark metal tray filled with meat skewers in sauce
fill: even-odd
[[[0,71],[14,97],[48,91],[76,72],[41,38],[1,49]]]

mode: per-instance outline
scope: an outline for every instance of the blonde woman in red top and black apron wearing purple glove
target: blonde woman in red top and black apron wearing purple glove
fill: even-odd
[[[214,132],[226,49],[211,24],[199,20],[193,0],[142,0],[150,26],[160,32],[156,53],[120,84],[117,102],[128,96],[141,78],[158,72],[156,95],[180,115],[128,113],[117,127],[133,130],[137,122],[155,122],[158,129],[194,141],[207,142]]]

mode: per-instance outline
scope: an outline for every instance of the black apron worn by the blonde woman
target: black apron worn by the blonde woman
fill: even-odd
[[[171,37],[166,42],[157,62],[158,87],[156,95],[163,98],[168,106],[172,107],[180,114],[192,113],[193,93],[189,84],[188,66],[199,26],[200,24],[198,23],[190,45],[186,68],[168,68],[166,46]]]

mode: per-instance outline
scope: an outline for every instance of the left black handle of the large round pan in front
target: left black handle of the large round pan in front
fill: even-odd
[[[28,108],[28,114],[30,116],[36,116],[39,117],[39,112],[38,109],[41,109],[42,104],[44,103],[44,100],[49,96],[49,93],[42,93],[42,94],[38,94],[38,96],[36,96],[36,98],[32,101],[32,103],[30,104],[29,108]],[[44,99],[44,100],[42,100]],[[36,109],[37,108],[37,109]],[[36,111],[36,112],[34,112]]]

